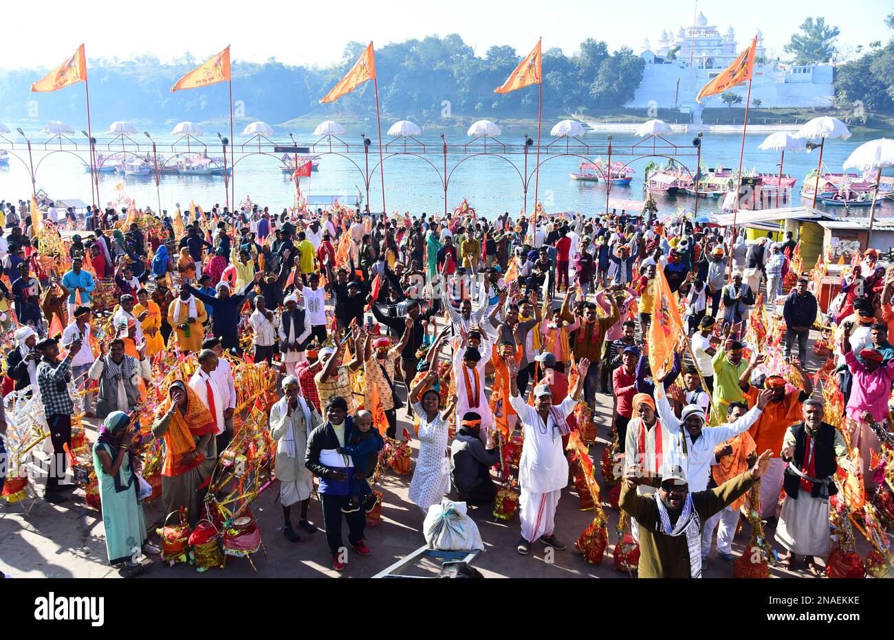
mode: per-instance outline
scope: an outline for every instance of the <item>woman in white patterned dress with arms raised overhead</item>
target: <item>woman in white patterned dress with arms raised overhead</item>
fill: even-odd
[[[437,371],[429,370],[409,392],[410,398],[416,398],[426,386],[429,387],[421,402],[410,405],[419,418],[419,457],[409,482],[409,500],[423,513],[427,513],[431,505],[440,504],[441,498],[450,490],[450,461],[446,455],[450,407],[443,413],[438,411],[441,395],[431,388],[437,378]]]

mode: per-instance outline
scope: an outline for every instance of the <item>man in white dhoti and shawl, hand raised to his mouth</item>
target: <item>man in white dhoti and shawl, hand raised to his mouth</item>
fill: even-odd
[[[280,481],[280,502],[283,503],[283,533],[291,542],[300,538],[291,526],[291,505],[301,503],[301,519],[298,526],[308,533],[316,528],[308,522],[310,490],[314,486],[314,474],[304,462],[308,448],[308,435],[323,419],[312,404],[298,393],[298,378],[283,378],[285,397],[270,409],[270,435],[276,440],[274,473]]]

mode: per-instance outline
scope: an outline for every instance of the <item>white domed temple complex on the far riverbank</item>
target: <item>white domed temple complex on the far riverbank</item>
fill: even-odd
[[[761,108],[829,106],[834,97],[831,62],[794,66],[778,60],[767,60],[760,30],[755,49],[755,77],[751,99],[760,101]],[[748,46],[751,36],[742,37]],[[723,107],[720,96],[696,103],[696,95],[704,85],[730,66],[739,54],[736,32],[730,27],[726,33],[708,24],[704,13],[699,13],[691,27],[663,30],[657,46],[648,38],[640,49],[645,61],[643,81],[636,96],[626,106],[630,109],[679,109],[691,112],[700,121],[704,107]],[[732,89],[745,100],[747,83]]]

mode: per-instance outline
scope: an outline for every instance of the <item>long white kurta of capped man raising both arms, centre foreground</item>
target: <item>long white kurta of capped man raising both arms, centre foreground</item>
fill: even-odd
[[[565,420],[578,401],[571,396],[552,407],[544,419],[521,395],[510,395],[510,404],[519,414],[525,434],[519,461],[519,485],[534,494],[547,494],[568,485],[568,460],[561,444],[559,425],[553,420],[558,414]],[[545,433],[544,433],[545,431]]]

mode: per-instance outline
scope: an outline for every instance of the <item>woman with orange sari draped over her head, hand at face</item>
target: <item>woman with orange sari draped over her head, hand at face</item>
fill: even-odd
[[[162,508],[165,514],[187,510],[190,527],[200,515],[199,490],[206,486],[217,457],[215,419],[196,392],[182,380],[168,389],[164,413],[152,435],[164,438]]]

